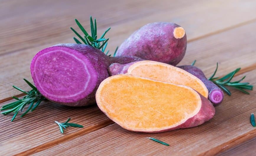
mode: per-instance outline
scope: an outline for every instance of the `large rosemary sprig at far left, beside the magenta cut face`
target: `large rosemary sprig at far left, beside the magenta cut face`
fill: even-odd
[[[14,85],[12,87],[14,87],[15,89],[17,89],[27,95],[24,96],[22,99],[19,99],[17,97],[12,97],[12,98],[16,99],[17,101],[6,104],[2,107],[2,109],[0,109],[1,111],[9,109],[5,112],[1,112],[1,114],[4,114],[4,115],[7,115],[11,112],[14,113],[11,122],[15,119],[15,117],[17,116],[19,111],[20,112],[23,111],[23,109],[26,105],[30,104],[29,107],[27,108],[27,110],[20,117],[23,117],[29,111],[31,111],[31,112],[34,111],[36,109],[36,107],[40,104],[40,102],[42,102],[45,99],[45,97],[43,97],[43,95],[40,94],[40,92],[37,90],[37,88],[33,84],[31,84],[26,79],[24,79],[24,81],[32,88],[30,91],[26,92]]]

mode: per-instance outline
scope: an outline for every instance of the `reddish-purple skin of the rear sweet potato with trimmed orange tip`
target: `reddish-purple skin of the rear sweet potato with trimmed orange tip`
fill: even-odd
[[[187,48],[186,34],[180,39],[175,38],[173,32],[176,27],[180,26],[167,22],[147,24],[120,45],[116,56],[136,56],[176,66]]]

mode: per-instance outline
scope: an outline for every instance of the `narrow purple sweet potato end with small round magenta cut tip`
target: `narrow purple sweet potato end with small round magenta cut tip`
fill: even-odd
[[[189,72],[190,74],[193,74],[206,85],[206,88],[209,91],[208,99],[213,103],[213,106],[218,106],[219,104],[221,104],[224,98],[223,91],[216,84],[209,81],[203,74],[202,70],[200,70],[195,66],[190,66],[190,65],[177,66],[177,67]]]

